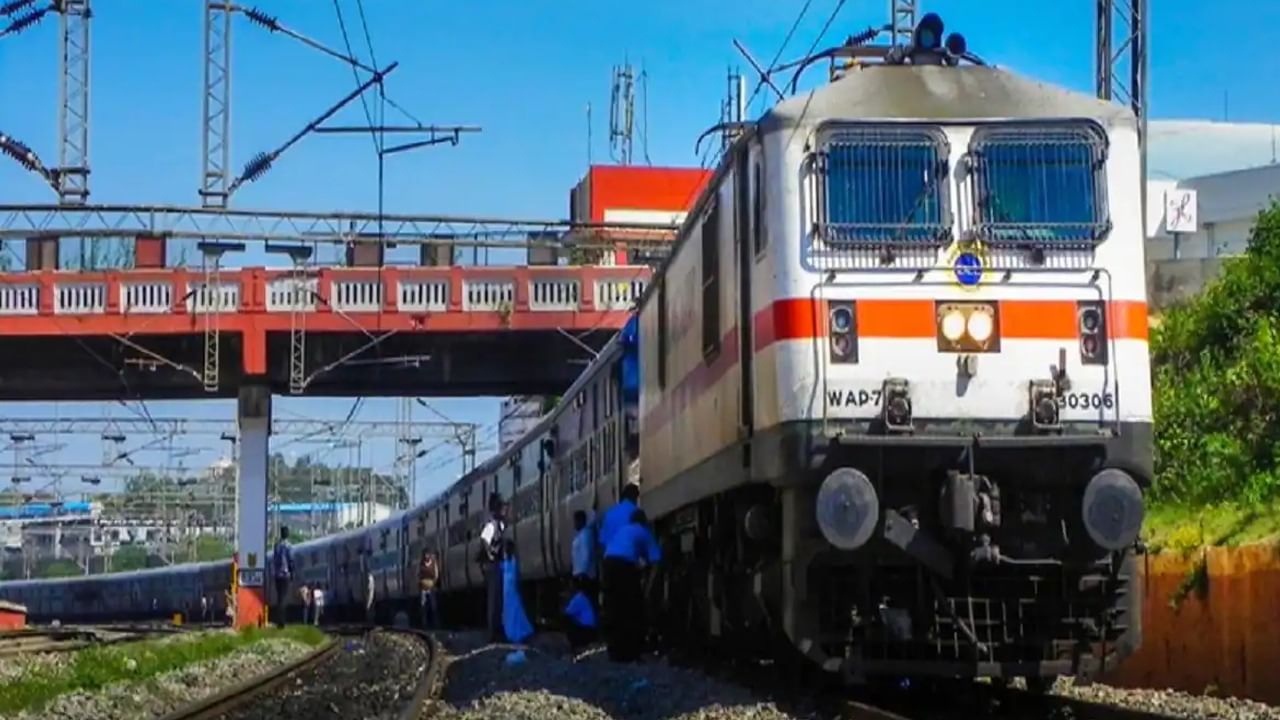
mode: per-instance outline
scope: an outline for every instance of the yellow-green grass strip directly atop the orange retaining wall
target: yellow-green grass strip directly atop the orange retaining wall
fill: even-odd
[[[1235,547],[1280,541],[1280,507],[1235,502],[1148,507],[1143,536],[1152,551],[1189,553],[1204,546]]]

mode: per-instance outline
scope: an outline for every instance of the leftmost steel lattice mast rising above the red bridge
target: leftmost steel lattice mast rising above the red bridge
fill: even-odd
[[[88,0],[61,0],[58,199],[88,199]]]

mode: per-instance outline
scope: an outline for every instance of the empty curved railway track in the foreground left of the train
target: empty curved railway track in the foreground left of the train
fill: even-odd
[[[439,644],[428,633],[399,628],[375,626],[338,626],[329,629],[334,637],[315,651],[302,656],[294,662],[265,673],[257,678],[251,678],[238,685],[228,688],[211,697],[182,707],[163,720],[243,720],[252,717],[298,716],[314,720],[325,716],[372,716],[366,715],[370,708],[360,705],[361,693],[366,688],[361,683],[365,675],[372,671],[374,675],[398,675],[392,667],[378,666],[378,659],[351,656],[367,652],[375,644],[375,638],[401,637],[412,638],[420,643],[426,653],[426,660],[420,676],[413,683],[412,693],[394,693],[392,702],[399,702],[396,711],[383,708],[378,717],[397,717],[410,720],[421,716],[428,701],[434,694],[439,680],[440,657]],[[364,643],[362,648],[355,646]],[[351,657],[348,657],[351,656]],[[343,666],[346,665],[346,666]],[[343,680],[349,679],[349,684]],[[311,694],[328,693],[329,696],[344,696],[353,701],[352,707],[360,707],[361,714],[352,714],[338,707],[326,698],[312,698]],[[389,694],[389,693],[388,693]],[[402,694],[408,694],[407,700],[401,700]],[[320,707],[317,714],[316,707]]]

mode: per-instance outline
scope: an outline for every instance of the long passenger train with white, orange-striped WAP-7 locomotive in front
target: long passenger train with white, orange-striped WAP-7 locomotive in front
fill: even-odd
[[[637,482],[664,550],[646,606],[673,643],[847,683],[1033,687],[1139,647],[1139,122],[987,65],[932,14],[910,44],[873,35],[730,128],[635,316],[534,429],[424,505],[296,548],[330,607],[412,614],[426,550],[445,616],[483,607],[498,493],[529,606],[554,618],[573,512]],[[0,597],[92,618],[111,593],[88,588],[119,582],[168,612],[192,596],[165,574],[187,571]],[[206,571],[192,588],[229,582]]]

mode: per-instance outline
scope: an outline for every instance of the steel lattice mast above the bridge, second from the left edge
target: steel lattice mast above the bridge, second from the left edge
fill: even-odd
[[[205,1],[204,168],[200,196],[206,208],[227,206],[230,182],[232,15],[234,8]]]

